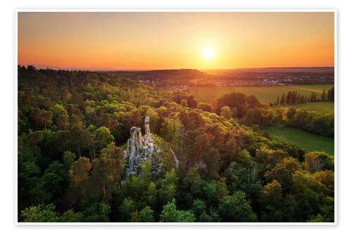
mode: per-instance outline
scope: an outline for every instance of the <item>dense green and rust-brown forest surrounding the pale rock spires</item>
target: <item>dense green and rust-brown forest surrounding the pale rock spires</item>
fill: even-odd
[[[334,137],[333,114],[255,93],[18,66],[18,221],[334,222],[334,155],[260,131],[277,124]]]

